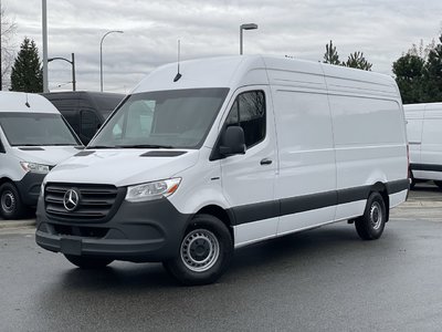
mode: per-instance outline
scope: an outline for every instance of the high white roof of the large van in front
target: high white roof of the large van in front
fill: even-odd
[[[389,75],[286,56],[233,55],[189,60],[180,63],[181,77],[173,82],[177,73],[177,62],[162,65],[146,76],[131,93],[271,83],[297,87],[314,86],[336,93],[364,91],[366,94],[393,97],[399,95],[396,82]],[[303,81],[304,79],[306,81]]]

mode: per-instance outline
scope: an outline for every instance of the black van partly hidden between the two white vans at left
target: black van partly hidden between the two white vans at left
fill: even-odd
[[[87,145],[96,131],[123,101],[125,94],[66,91],[43,93],[67,120],[75,133]]]

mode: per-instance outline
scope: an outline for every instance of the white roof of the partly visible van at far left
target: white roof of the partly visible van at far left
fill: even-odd
[[[24,92],[0,92],[0,112],[60,112],[45,97]]]

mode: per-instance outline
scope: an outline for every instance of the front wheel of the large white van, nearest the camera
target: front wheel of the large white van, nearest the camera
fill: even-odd
[[[182,284],[208,284],[221,277],[232,256],[233,241],[227,226],[217,217],[198,215],[187,228],[177,257],[162,266]]]

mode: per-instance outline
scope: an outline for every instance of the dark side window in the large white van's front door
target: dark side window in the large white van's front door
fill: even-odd
[[[251,147],[265,137],[265,96],[262,91],[238,95],[225,124],[240,125],[244,131],[245,145]]]

